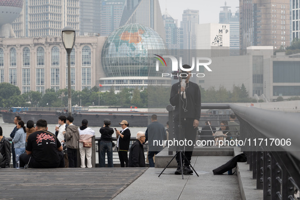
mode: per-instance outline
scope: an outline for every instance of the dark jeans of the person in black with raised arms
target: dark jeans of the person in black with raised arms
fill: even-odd
[[[105,152],[107,153],[107,166],[113,168],[113,144],[112,142],[100,142],[99,147],[99,165],[101,168],[105,168]]]

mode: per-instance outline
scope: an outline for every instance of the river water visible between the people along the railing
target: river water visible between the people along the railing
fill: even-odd
[[[26,121],[24,121],[25,123],[25,126],[26,126]],[[55,133],[55,125],[56,124],[48,124],[48,130],[50,132],[52,132],[53,134]],[[75,124],[77,126],[80,126],[81,124]],[[3,130],[3,135],[6,137],[6,138],[9,138],[9,135],[10,133],[12,132],[12,130],[14,129],[14,127],[16,126],[14,123],[4,123],[3,122],[3,119],[2,119],[2,116],[0,117],[0,126],[2,127],[2,130]],[[91,129],[93,129],[95,131],[95,137],[101,137],[101,134],[99,132],[99,129],[101,127],[99,126],[90,126]],[[113,126],[112,128],[117,128],[118,130],[121,130],[121,125],[120,126]],[[137,133],[139,131],[143,131],[145,132],[147,127],[128,127],[130,129],[130,133],[131,133],[131,137],[136,137]],[[113,137],[116,137],[116,134],[114,133],[113,134]]]

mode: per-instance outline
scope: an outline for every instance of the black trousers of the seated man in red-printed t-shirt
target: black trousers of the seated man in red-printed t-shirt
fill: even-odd
[[[61,151],[58,152],[59,155],[59,165],[42,165],[41,163],[37,162],[32,154],[27,155],[26,153],[22,153],[20,155],[20,167],[24,168],[25,164],[29,162],[29,168],[64,168],[64,158],[63,153]]]

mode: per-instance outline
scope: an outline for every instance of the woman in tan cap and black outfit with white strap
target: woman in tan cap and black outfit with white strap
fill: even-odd
[[[130,143],[130,130],[128,128],[129,124],[126,120],[122,120],[119,124],[121,124],[122,130],[116,130],[117,136],[117,149],[120,159],[121,168],[128,167],[128,150],[129,150],[129,143]],[[125,163],[125,164],[124,164]]]

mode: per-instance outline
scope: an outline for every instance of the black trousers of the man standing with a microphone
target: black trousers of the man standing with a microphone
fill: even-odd
[[[185,166],[188,166],[191,161],[192,153],[194,150],[194,144],[196,140],[197,128],[193,127],[194,119],[193,118],[181,118],[181,128],[180,126],[175,125],[175,140],[179,142],[179,145],[176,145],[176,150],[182,150],[185,157],[182,156],[182,163]],[[179,124],[179,119],[174,120],[174,124]],[[181,130],[181,131],[179,131]],[[176,151],[176,152],[177,152]],[[180,154],[177,154],[176,161],[178,165],[180,164]],[[187,162],[188,161],[188,162]]]

